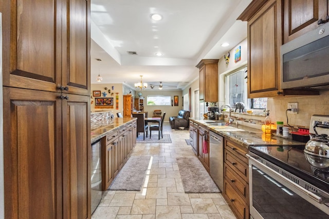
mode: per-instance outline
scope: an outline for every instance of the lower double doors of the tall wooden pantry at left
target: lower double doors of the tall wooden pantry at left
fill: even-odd
[[[5,218],[89,218],[90,97],[3,91]]]

